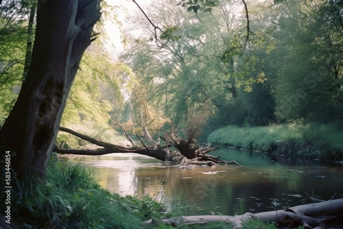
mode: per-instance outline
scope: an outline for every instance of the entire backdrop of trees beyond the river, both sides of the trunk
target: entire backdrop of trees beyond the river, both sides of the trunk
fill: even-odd
[[[123,63],[93,43],[80,60],[62,123],[91,120],[108,128],[134,125],[143,115],[152,130],[168,121],[187,127],[207,120],[208,132],[342,123],[342,1],[200,3],[156,2],[132,16]],[[1,125],[27,76],[40,7],[1,1]]]

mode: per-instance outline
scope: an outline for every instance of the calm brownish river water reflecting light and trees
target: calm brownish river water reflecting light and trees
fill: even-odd
[[[86,157],[104,189],[121,195],[150,195],[169,208],[188,205],[189,215],[257,213],[310,204],[314,199],[343,198],[343,167],[285,156],[220,149],[215,155],[236,160],[242,166],[180,169],[136,154]],[[274,204],[272,204],[274,202]],[[275,206],[276,204],[276,206]]]

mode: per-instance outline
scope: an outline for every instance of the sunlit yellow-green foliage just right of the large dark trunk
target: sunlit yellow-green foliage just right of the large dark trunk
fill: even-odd
[[[94,121],[98,128],[106,128],[110,114],[118,119],[115,110],[121,110],[123,106],[120,91],[123,82],[119,76],[126,69],[122,64],[111,63],[105,55],[100,56],[95,50],[84,54],[81,71],[78,71],[71,87],[62,125]]]

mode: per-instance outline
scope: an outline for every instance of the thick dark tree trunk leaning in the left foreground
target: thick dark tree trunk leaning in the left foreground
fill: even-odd
[[[71,84],[99,16],[99,0],[38,2],[29,72],[0,130],[0,156],[11,152],[18,176],[45,175]]]

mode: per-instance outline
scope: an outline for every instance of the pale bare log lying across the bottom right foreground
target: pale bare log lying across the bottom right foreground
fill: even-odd
[[[246,213],[244,215],[197,215],[182,216],[170,219],[161,219],[157,222],[146,221],[145,224],[168,224],[178,226],[180,224],[207,224],[211,222],[224,222],[233,224],[235,228],[241,228],[241,224],[250,219],[263,222],[274,222],[281,228],[323,228],[329,219],[343,217],[343,199],[328,200],[314,204],[304,204],[285,208],[283,210],[268,211],[263,213]]]

